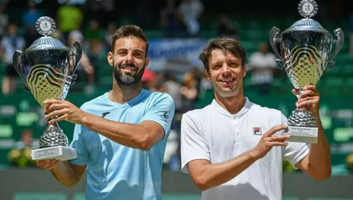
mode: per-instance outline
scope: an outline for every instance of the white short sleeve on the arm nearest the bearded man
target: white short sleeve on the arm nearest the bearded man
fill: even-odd
[[[206,159],[211,162],[210,151],[195,117],[184,114],[181,119],[181,171],[189,173],[187,164],[192,160]]]

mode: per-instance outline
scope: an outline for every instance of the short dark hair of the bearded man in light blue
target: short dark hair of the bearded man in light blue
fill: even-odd
[[[119,38],[134,36],[142,39],[146,44],[146,55],[148,51],[148,41],[142,29],[136,25],[125,25],[120,26],[118,30],[115,31],[112,37],[112,43],[110,44],[110,51],[114,52],[115,42],[119,40]]]

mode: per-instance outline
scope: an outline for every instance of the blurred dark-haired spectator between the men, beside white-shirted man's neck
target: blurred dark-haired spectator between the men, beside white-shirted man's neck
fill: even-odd
[[[192,73],[187,73],[184,76],[184,83],[181,87],[181,102],[182,112],[186,113],[189,110],[195,109],[195,101],[198,96],[198,91],[196,89],[197,81]]]

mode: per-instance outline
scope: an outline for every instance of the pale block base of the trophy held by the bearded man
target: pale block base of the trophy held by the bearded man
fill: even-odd
[[[77,150],[66,146],[53,146],[32,150],[32,160],[71,160],[77,158]]]

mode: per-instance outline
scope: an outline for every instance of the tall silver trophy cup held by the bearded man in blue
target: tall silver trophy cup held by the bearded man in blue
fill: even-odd
[[[24,52],[16,50],[13,64],[24,79],[24,89],[30,91],[42,108],[45,99],[66,98],[69,87],[74,83],[74,74],[81,59],[82,49],[78,42],[72,47],[64,46],[58,39],[50,37],[55,30],[52,18],[41,17],[36,23],[37,31],[43,35]],[[40,149],[32,150],[32,159],[70,160],[77,158],[76,149],[68,147],[67,136],[58,123],[48,125],[40,138]]]

